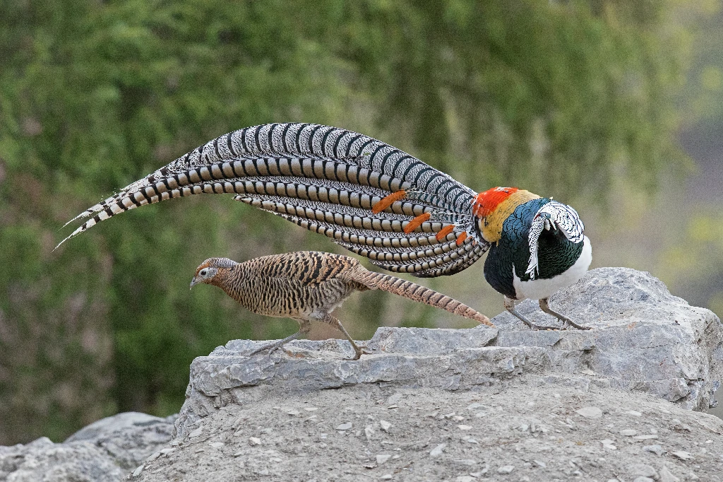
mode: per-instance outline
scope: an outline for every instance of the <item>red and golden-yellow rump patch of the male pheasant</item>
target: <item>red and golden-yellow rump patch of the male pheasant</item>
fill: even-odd
[[[502,237],[502,224],[515,208],[539,195],[516,187],[495,187],[479,193],[475,198],[472,212],[477,218],[477,225],[482,237],[487,242],[497,242]]]

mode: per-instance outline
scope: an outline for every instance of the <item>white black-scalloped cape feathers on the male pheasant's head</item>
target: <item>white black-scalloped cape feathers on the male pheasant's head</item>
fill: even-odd
[[[578,215],[578,211],[567,204],[558,203],[553,200],[542,206],[537,211],[527,237],[530,248],[530,261],[528,263],[526,274],[530,279],[536,279],[539,271],[537,264],[537,249],[540,234],[545,229],[560,229],[562,234],[570,240],[570,242],[581,242],[584,239],[583,231],[585,225]]]

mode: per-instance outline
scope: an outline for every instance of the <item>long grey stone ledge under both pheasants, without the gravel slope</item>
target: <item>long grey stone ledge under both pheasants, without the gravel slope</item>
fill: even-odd
[[[589,271],[556,293],[552,305],[595,329],[530,331],[508,313],[493,320],[499,329],[382,327],[367,344],[373,354],[357,361],[341,359],[351,350],[343,340],[298,340],[270,357],[248,357],[258,343],[234,340],[193,361],[176,429],[187,434],[218,408],[270,392],[354,384],[474,389],[528,373],[549,384],[569,384],[575,375],[573,383],[583,389],[647,392],[686,409],[714,403],[723,379],[723,329],[710,310],[691,307],[650,274],[625,268]],[[530,300],[519,309],[533,321],[555,323]]]

